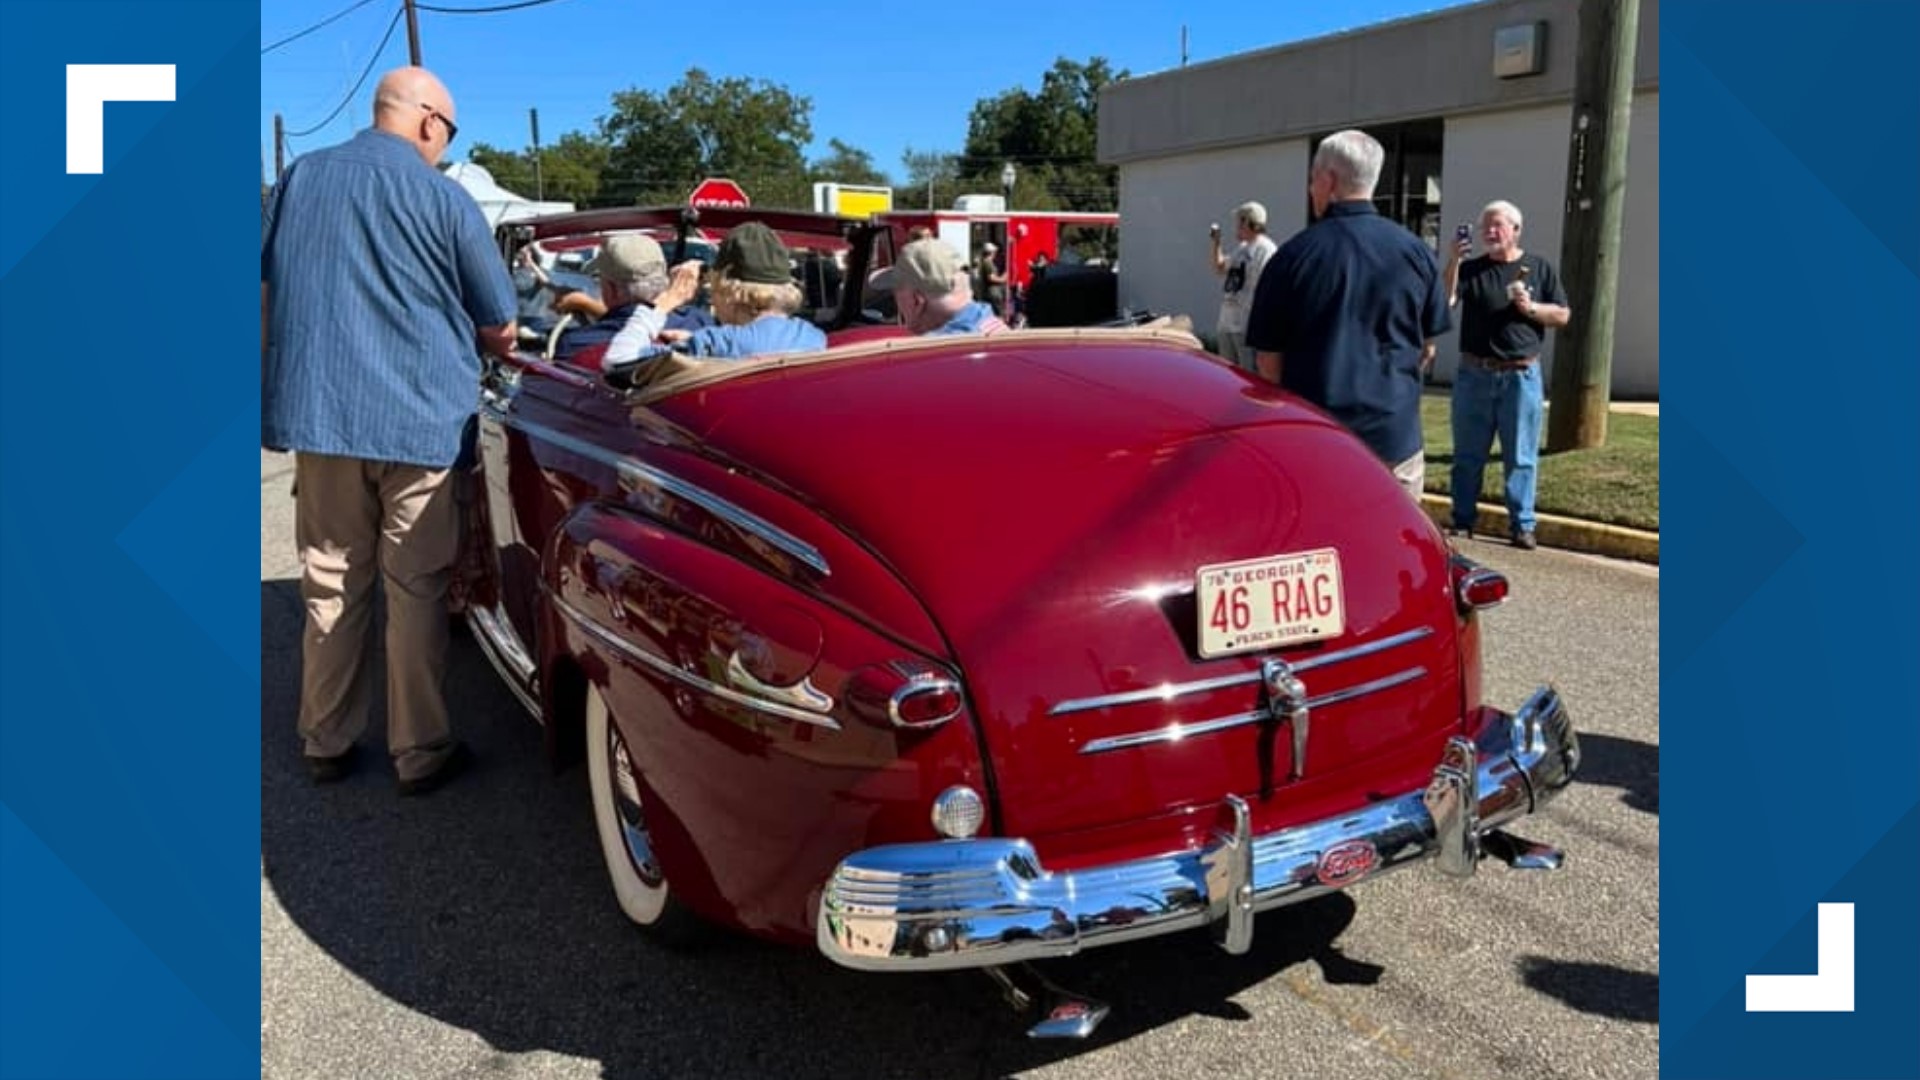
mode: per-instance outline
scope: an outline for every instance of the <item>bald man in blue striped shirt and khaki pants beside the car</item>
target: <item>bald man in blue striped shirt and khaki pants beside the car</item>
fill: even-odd
[[[513,282],[480,206],[436,169],[457,135],[440,79],[390,71],[372,127],[280,179],[259,254],[261,446],[296,455],[307,769],[315,782],[353,769],[378,577],[386,742],[403,796],[472,761],[442,692],[453,477],[478,352],[509,356],[515,340]]]

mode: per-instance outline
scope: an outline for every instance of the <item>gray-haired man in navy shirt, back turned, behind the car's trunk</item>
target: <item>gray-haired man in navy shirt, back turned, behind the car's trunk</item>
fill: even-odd
[[[1267,261],[1246,346],[1263,379],[1327,409],[1417,500],[1421,377],[1453,323],[1434,254],[1373,211],[1384,158],[1365,131],[1321,140],[1308,175],[1319,221]]]

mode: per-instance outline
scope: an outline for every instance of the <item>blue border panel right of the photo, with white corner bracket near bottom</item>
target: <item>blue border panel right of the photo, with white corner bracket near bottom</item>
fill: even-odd
[[[1920,1076],[1920,4],[1661,10],[1661,1074]],[[1855,905],[1853,1013],[1747,1013]]]

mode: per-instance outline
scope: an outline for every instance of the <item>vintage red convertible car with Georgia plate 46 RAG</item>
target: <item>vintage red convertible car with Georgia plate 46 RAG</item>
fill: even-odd
[[[697,227],[745,219],[849,282],[891,258],[824,215]],[[1344,429],[1185,332],[904,338],[843,292],[824,352],[484,386],[468,619],[586,757],[634,922],[985,969],[1085,1036],[1106,1007],[1029,961],[1244,951],[1256,913],[1417,861],[1559,865],[1505,832],[1580,757],[1551,688],[1480,696],[1507,582]]]

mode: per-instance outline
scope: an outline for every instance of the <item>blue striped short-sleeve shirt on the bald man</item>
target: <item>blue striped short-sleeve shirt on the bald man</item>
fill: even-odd
[[[480,206],[407,140],[363,131],[273,192],[261,446],[445,467],[480,384],[476,327],[513,321]]]

